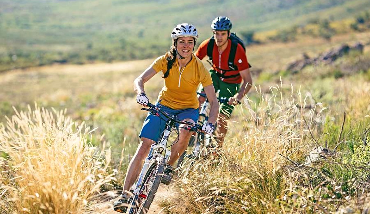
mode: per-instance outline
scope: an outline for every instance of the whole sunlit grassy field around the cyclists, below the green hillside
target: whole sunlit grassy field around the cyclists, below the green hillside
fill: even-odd
[[[163,212],[369,213],[369,36],[247,47],[254,86],[233,113],[222,158],[179,169]],[[363,53],[284,72],[304,52],[359,41]],[[0,74],[1,212],[94,213],[97,198],[121,188],[146,116],[132,81],[152,60]],[[162,81],[145,84],[151,101]],[[319,146],[328,152],[305,164]]]

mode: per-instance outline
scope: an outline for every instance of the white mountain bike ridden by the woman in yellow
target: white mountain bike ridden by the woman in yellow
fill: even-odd
[[[189,130],[189,132],[196,132],[198,135],[203,135],[203,133],[199,131],[202,129],[202,126],[179,120],[174,115],[168,115],[166,112],[161,110],[160,106],[155,106],[152,103],[148,103],[147,106],[148,108],[142,108],[141,110],[149,111],[153,115],[159,117],[163,115],[167,119],[165,125],[166,128],[161,134],[161,137],[159,137],[159,140],[151,145],[139,178],[131,190],[132,195],[128,199],[129,206],[126,211],[128,214],[145,214],[149,210],[155,193],[157,193],[159,183],[161,182],[166,163],[171,155],[171,151],[167,149],[171,146],[167,146],[170,133],[174,130],[186,129]],[[163,118],[161,117],[161,119]],[[176,128],[176,123],[189,126]]]

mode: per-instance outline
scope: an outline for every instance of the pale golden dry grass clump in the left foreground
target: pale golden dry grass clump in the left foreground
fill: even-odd
[[[109,155],[88,145],[91,131],[64,111],[35,107],[0,124],[1,213],[81,214],[103,184]],[[6,162],[5,162],[6,161]]]

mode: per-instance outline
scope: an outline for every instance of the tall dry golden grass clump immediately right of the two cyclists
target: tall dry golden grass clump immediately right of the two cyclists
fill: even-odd
[[[256,106],[239,106],[229,124],[222,159],[199,162],[179,181],[180,200],[189,204],[172,207],[171,213],[263,213],[275,209],[274,200],[288,182],[282,174],[288,161],[279,154],[293,159],[302,156],[310,143],[306,135],[321,123],[323,110],[316,103],[312,109],[302,107],[312,103],[293,88],[283,95],[280,87],[260,94]]]

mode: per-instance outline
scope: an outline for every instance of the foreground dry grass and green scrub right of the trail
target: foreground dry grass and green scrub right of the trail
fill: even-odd
[[[349,89],[339,109],[283,88],[239,106],[222,159],[179,177],[178,197],[162,202],[169,213],[369,212],[369,82]],[[306,165],[319,146],[329,152]]]

